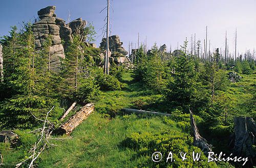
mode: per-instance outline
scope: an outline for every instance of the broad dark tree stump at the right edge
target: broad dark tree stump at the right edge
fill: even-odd
[[[256,124],[250,117],[236,117],[234,118],[234,148],[233,152],[236,156],[256,157]]]

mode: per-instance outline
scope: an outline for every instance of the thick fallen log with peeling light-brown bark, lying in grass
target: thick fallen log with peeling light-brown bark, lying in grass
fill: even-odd
[[[67,134],[69,135],[79,124],[82,123],[84,119],[94,111],[93,104],[87,104],[81,108],[73,117],[71,117],[66,123],[63,123],[57,129],[57,133],[59,134]]]

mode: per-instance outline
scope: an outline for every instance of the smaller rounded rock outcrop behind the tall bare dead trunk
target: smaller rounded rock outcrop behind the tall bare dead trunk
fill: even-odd
[[[124,47],[122,47],[123,42],[120,41],[119,36],[114,35],[109,37],[109,47],[112,53],[115,52],[119,52],[123,55],[123,57],[125,55],[128,54],[128,52],[124,49]],[[100,48],[105,49],[106,48],[106,38],[102,39],[102,42],[100,43]]]

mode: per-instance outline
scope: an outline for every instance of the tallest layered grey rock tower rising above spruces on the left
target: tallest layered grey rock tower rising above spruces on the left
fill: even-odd
[[[50,69],[58,72],[60,58],[65,58],[64,51],[68,48],[69,42],[73,40],[73,35],[82,35],[82,30],[87,22],[78,18],[67,25],[63,19],[56,17],[56,14],[54,13],[55,9],[55,6],[49,6],[39,10],[37,14],[40,20],[33,24],[32,31],[35,37],[35,48],[37,50],[42,49],[47,37],[51,35],[52,46],[50,47]],[[83,38],[83,35],[81,37]],[[62,44],[62,41],[65,43]]]

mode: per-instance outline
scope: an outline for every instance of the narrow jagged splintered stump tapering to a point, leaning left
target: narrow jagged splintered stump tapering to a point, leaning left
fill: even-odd
[[[193,117],[193,113],[189,109],[190,112],[190,125],[194,137],[194,146],[200,148],[205,154],[211,151],[211,146],[207,144],[207,141],[205,138],[203,138],[198,131],[195,119]]]

